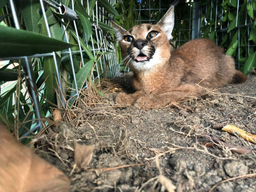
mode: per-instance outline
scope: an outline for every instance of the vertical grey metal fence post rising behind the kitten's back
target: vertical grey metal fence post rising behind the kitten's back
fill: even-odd
[[[192,22],[192,39],[200,38],[200,0],[194,0],[193,2],[193,22]]]

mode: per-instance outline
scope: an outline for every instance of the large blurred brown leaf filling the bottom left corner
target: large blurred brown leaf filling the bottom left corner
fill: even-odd
[[[1,192],[69,192],[65,174],[17,141],[0,124]]]

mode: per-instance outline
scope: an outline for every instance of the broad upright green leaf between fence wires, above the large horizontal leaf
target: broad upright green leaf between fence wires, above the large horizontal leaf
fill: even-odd
[[[26,30],[39,33],[40,27],[38,22],[40,20],[39,10],[41,9],[40,2],[38,0],[23,0],[24,7],[22,9],[22,16]]]

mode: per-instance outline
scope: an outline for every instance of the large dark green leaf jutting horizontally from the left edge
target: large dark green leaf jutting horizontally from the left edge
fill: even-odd
[[[44,54],[74,46],[54,38],[0,26],[0,57]]]

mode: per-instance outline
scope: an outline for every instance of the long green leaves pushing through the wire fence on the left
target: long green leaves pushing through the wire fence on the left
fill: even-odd
[[[48,37],[46,29],[45,19],[42,14],[41,5],[39,0],[14,0],[17,9],[17,17],[21,30],[16,30],[13,25],[12,15],[7,14],[5,6],[9,7],[8,0],[0,0],[0,58],[2,57],[18,57],[33,54],[48,54],[56,52],[56,60],[58,71],[61,78],[61,87],[64,90],[64,97],[68,100],[74,95],[74,77],[77,79],[78,90],[80,91],[84,87],[85,80],[92,81],[91,75],[97,76],[97,72],[93,69],[96,66],[100,71],[106,71],[108,74],[108,66],[106,68],[100,68],[98,61],[100,55],[108,54],[102,50],[92,51],[93,47],[97,48],[98,43],[96,41],[96,30],[92,28],[92,25],[96,23],[96,0],[89,1],[89,7],[87,2],[81,0],[75,0],[74,10],[78,15],[78,19],[75,20],[78,30],[78,36],[75,31],[74,22],[65,18],[58,10],[53,7],[49,7],[45,4],[46,17],[51,33],[51,38]],[[57,0],[59,2],[59,0]],[[62,0],[61,3],[67,7],[72,8],[72,1]],[[104,14],[110,13],[109,17],[115,15],[120,17],[108,0],[100,0],[98,6],[104,7]],[[2,7],[4,7],[2,9]],[[88,11],[89,10],[89,11]],[[99,11],[99,9],[98,9]],[[93,18],[95,17],[95,18]],[[98,21],[97,35],[101,35],[102,40],[106,37],[104,42],[108,50],[111,51],[109,46],[110,42],[115,42],[113,39],[113,28],[106,24],[108,17],[98,15],[101,18]],[[9,19],[10,18],[10,19]],[[61,20],[63,19],[63,20]],[[62,26],[65,26],[65,30]],[[7,25],[7,27],[5,26]],[[99,33],[100,31],[100,33]],[[67,33],[67,37],[64,33]],[[92,38],[91,38],[92,37]],[[70,43],[67,43],[67,39]],[[87,42],[85,41],[87,40]],[[69,58],[69,54],[63,54],[61,52],[67,52],[70,48],[72,51],[79,51],[78,41],[81,44],[82,58],[80,52],[72,53],[72,61],[74,64],[74,72]],[[100,41],[100,39],[99,39]],[[99,44],[101,46],[101,44]],[[104,47],[104,46],[102,46]],[[98,54],[97,54],[98,53]],[[101,58],[102,60],[103,58]],[[82,60],[84,66],[82,66]],[[103,60],[102,60],[103,61]],[[15,65],[13,64],[15,63]],[[108,61],[106,64],[108,65]],[[58,83],[56,81],[56,67],[53,56],[45,56],[40,58],[29,59],[30,68],[33,69],[32,79],[34,81],[35,91],[38,95],[38,102],[41,106],[41,114],[43,116],[50,115],[50,107],[59,105],[59,99],[56,92],[59,91]],[[0,85],[6,83],[6,81],[13,81],[11,85],[0,89],[0,121],[10,127],[17,119],[20,123],[17,124],[19,130],[19,136],[24,134],[28,129],[35,126],[35,106],[30,99],[31,95],[30,80],[25,77],[26,65],[23,59],[13,59],[5,61],[4,67],[0,68]],[[95,71],[95,72],[94,72]],[[104,74],[100,74],[104,75]],[[22,84],[26,85],[26,92],[20,91]],[[66,86],[66,87],[65,87]],[[96,84],[93,84],[96,87]],[[67,90],[67,91],[66,91]],[[19,93],[19,94],[16,94]],[[98,91],[98,94],[101,92]],[[69,105],[69,107],[72,107]],[[15,128],[15,127],[12,127]],[[17,127],[16,127],[17,128]],[[27,128],[27,129],[26,129]]]

